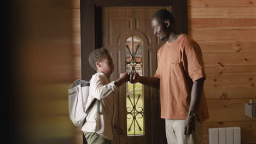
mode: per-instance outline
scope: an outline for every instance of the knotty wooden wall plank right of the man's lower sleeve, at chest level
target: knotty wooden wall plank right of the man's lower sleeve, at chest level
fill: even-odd
[[[245,75],[256,74],[256,52],[205,52],[203,60],[206,74]]]

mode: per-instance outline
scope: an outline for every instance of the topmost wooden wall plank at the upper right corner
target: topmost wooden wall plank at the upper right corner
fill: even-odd
[[[256,0],[188,0],[189,7],[255,7]]]

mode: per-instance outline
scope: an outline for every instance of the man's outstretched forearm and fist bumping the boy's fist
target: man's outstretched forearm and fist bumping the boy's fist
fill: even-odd
[[[160,87],[160,79],[158,77],[145,77],[140,76],[138,73],[130,74],[130,82],[131,83],[142,83],[143,85],[147,85],[149,87],[159,88]]]

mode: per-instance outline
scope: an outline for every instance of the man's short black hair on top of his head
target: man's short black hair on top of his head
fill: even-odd
[[[152,19],[156,18],[159,20],[159,22],[164,23],[165,20],[169,20],[171,24],[175,24],[174,17],[172,13],[166,9],[159,9],[155,12],[155,14],[152,16]]]

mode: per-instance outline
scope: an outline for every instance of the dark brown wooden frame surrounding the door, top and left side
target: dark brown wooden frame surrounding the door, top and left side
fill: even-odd
[[[147,5],[146,5],[147,4]],[[188,34],[188,8],[187,0],[80,0],[81,20],[81,66],[82,79],[90,80],[95,70],[88,62],[89,53],[100,45],[96,45],[95,11],[97,7],[127,7],[127,6],[150,6],[150,5],[172,5],[172,13],[176,20],[178,29]],[[184,27],[185,26],[185,27]],[[96,47],[97,46],[97,47]]]

